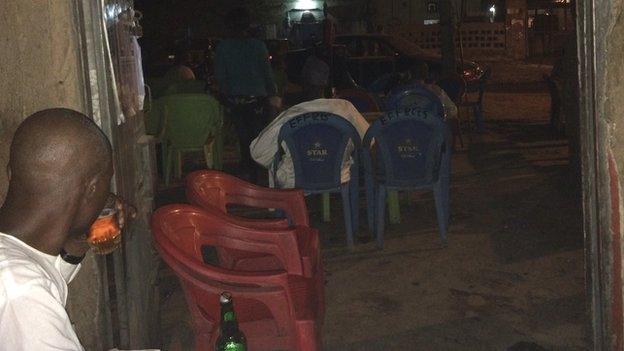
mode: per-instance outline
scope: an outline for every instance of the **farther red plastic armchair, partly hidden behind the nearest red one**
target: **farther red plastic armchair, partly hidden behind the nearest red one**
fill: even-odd
[[[230,215],[242,225],[250,228],[286,229],[289,228],[289,221],[295,226],[309,227],[303,191],[298,189],[263,188],[223,172],[206,170],[196,171],[187,176],[186,197],[194,205],[223,214],[227,213],[228,205],[244,205],[277,208],[284,211],[288,217],[288,220],[254,220]],[[303,268],[297,271],[289,270],[289,273],[300,274],[299,272],[302,271],[306,277],[310,277],[316,271],[322,271],[318,232],[300,230],[298,234],[297,245],[293,243],[293,249],[285,252],[285,255],[289,256],[288,260],[291,262],[301,261]],[[300,249],[297,250],[297,247]],[[315,250],[305,250],[305,248],[315,248]],[[217,250],[217,254],[222,266],[229,269],[253,271],[283,268],[280,260],[270,255],[230,249]]]

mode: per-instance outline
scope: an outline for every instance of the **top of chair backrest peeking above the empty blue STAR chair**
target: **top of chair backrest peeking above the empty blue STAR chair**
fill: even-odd
[[[440,98],[426,86],[418,83],[394,89],[386,100],[385,107],[386,111],[418,108],[431,111],[440,117],[444,115],[444,107]]]

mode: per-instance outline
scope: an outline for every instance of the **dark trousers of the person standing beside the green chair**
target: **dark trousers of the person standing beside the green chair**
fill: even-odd
[[[228,98],[228,116],[232,119],[240,145],[241,176],[258,183],[259,166],[251,158],[249,144],[267,125],[265,101],[261,98]]]

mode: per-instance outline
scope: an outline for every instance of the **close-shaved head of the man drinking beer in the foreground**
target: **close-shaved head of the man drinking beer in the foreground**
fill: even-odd
[[[26,118],[15,132],[8,169],[4,216],[40,216],[39,221],[63,223],[66,233],[58,235],[83,235],[108,197],[111,145],[85,115],[62,108],[43,110]]]

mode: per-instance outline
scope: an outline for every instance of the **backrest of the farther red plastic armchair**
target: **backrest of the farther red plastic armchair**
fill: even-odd
[[[263,188],[223,172],[202,170],[186,177],[186,197],[193,204],[222,213],[227,212],[228,205],[276,208],[286,213],[291,225],[310,225],[303,191],[300,189]],[[276,222],[273,224],[278,227],[288,226],[288,222],[271,222]]]

